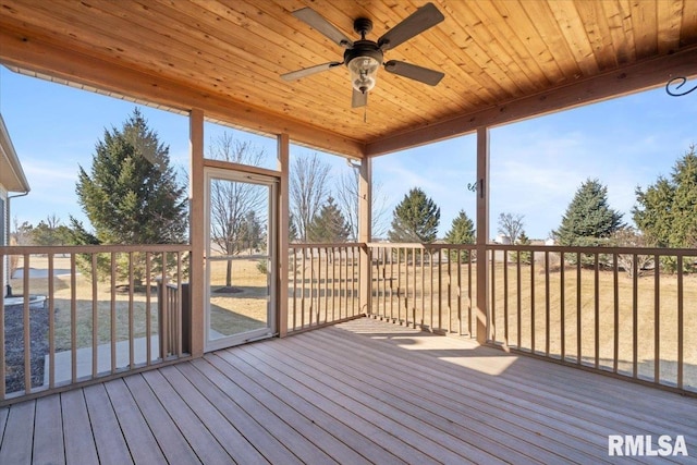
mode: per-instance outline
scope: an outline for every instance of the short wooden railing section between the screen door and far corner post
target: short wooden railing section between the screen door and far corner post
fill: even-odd
[[[291,244],[289,332],[360,315],[359,244]]]

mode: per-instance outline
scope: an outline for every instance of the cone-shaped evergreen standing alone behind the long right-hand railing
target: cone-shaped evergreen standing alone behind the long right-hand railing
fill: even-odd
[[[608,188],[587,180],[576,191],[554,237],[561,245],[595,246],[622,228],[622,213],[608,206]]]

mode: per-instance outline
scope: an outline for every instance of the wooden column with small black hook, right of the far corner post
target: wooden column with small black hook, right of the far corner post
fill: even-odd
[[[490,336],[489,313],[489,129],[477,129],[477,342]]]

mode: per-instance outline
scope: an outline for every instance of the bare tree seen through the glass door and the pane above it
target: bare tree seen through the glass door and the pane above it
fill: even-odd
[[[249,142],[233,139],[223,133],[211,140],[209,158],[242,164],[259,166],[266,157],[261,148]],[[211,180],[210,184],[210,238],[224,255],[237,255],[248,241],[245,241],[248,218],[256,216],[265,205],[266,191],[255,184]],[[261,217],[262,218],[262,217]],[[225,286],[232,285],[232,260],[228,260]]]

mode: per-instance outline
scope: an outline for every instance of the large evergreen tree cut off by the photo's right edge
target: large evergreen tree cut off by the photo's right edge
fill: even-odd
[[[697,154],[678,159],[670,179],[659,176],[646,192],[637,188],[634,222],[661,247],[697,247]]]

